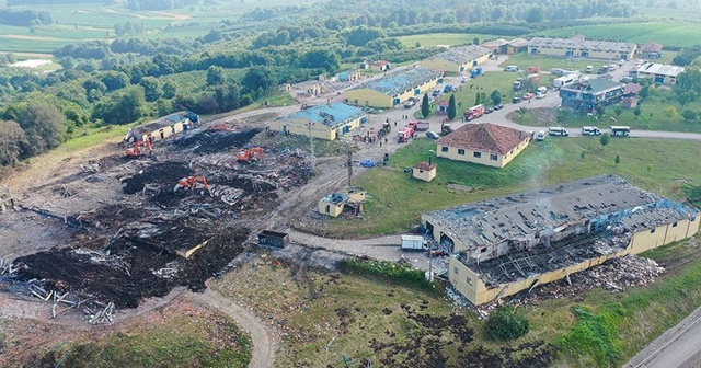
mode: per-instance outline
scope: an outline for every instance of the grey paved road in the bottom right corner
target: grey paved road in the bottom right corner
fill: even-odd
[[[701,307],[667,330],[624,368],[691,368],[701,366]]]

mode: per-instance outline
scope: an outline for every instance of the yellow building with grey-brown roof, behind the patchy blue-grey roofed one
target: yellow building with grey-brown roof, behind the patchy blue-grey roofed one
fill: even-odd
[[[475,45],[451,47],[421,61],[420,65],[436,71],[463,72],[484,64],[491,55],[491,49]]]

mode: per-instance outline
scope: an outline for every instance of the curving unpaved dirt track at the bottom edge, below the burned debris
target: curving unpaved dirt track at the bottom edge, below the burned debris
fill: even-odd
[[[221,294],[207,288],[204,292],[189,292],[187,298],[215,308],[232,318],[253,341],[253,356],[249,368],[271,368],[275,364],[277,338],[253,312],[237,304]]]

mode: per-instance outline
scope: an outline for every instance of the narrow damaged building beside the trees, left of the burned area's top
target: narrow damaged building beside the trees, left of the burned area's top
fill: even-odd
[[[136,140],[163,140],[170,136],[176,135],[199,123],[199,117],[193,112],[177,112],[168,116],[160,117],[156,120],[129,129],[124,137],[124,141],[133,142]]]

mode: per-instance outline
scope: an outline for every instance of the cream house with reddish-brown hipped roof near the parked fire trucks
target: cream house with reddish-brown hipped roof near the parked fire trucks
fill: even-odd
[[[530,133],[492,123],[468,124],[438,139],[438,157],[504,168],[530,142]]]

